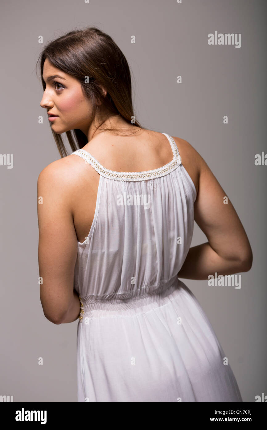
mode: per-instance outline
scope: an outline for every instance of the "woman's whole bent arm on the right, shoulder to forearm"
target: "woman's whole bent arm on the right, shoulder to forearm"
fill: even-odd
[[[186,144],[184,151],[190,153],[199,169],[195,222],[208,242],[189,249],[178,277],[207,279],[215,272],[218,275],[246,272],[252,266],[253,255],[237,212],[207,163],[188,142]]]

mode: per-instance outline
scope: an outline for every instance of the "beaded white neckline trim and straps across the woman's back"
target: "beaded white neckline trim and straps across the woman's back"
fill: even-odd
[[[162,134],[168,138],[174,156],[168,164],[165,164],[165,166],[159,167],[158,169],[145,170],[144,172],[116,172],[114,170],[106,169],[99,163],[99,161],[96,160],[95,157],[93,157],[92,154],[84,149],[78,149],[77,151],[72,152],[72,154],[83,158],[96,170],[96,172],[99,173],[99,175],[105,176],[105,178],[108,179],[115,179],[117,181],[145,181],[146,179],[159,178],[160,176],[164,176],[172,172],[182,163],[177,144],[174,139],[167,133]]]

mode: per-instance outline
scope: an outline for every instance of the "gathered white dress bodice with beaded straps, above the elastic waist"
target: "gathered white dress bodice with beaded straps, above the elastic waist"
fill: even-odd
[[[166,138],[171,160],[148,171],[114,171],[84,148],[73,153],[100,175],[90,232],[78,241],[75,289],[84,300],[144,296],[177,278],[192,239],[196,190]]]

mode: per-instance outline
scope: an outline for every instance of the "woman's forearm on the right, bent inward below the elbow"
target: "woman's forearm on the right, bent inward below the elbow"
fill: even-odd
[[[209,275],[231,275],[244,272],[244,264],[240,260],[220,257],[208,242],[193,246],[189,249],[178,278],[208,279]]]

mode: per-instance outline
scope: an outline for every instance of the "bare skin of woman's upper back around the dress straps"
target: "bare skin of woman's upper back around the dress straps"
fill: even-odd
[[[192,147],[183,139],[174,138],[179,147],[183,166],[198,190],[198,163],[192,157]],[[141,130],[132,136],[116,136],[99,133],[83,149],[93,155],[105,168],[120,172],[140,172],[157,169],[173,158],[167,137],[152,130]],[[96,210],[99,173],[88,163],[73,157],[75,180],[75,204],[73,220],[80,243],[88,236]],[[78,169],[78,170],[76,170]]]

